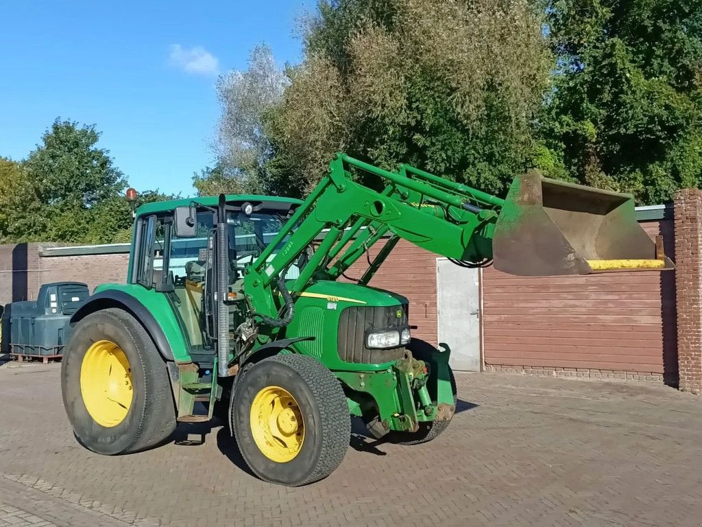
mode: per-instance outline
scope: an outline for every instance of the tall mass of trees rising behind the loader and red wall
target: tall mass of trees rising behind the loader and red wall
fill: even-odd
[[[201,192],[305,195],[336,150],[498,194],[531,168],[640,204],[701,184],[698,0],[321,0],[300,33],[300,64],[220,79]]]

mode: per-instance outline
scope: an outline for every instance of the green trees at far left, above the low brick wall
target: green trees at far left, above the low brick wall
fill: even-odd
[[[0,157],[0,242],[131,239],[126,181],[99,138],[95,126],[56,119],[27,160]],[[147,190],[139,204],[171,198]]]

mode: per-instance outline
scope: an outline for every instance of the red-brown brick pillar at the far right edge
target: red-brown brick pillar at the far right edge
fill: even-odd
[[[702,390],[702,191],[675,197],[677,362],[680,389]]]

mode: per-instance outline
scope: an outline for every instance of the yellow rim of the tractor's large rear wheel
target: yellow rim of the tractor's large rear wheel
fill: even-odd
[[[114,342],[99,340],[86,351],[81,396],[90,416],[103,427],[116,427],[127,417],[133,397],[131,368]]]

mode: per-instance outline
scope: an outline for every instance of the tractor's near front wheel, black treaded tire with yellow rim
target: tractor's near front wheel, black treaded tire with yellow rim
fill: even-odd
[[[329,476],[351,436],[338,379],[314,358],[277,355],[234,384],[232,424],[241,456],[260,479],[300,486]]]

